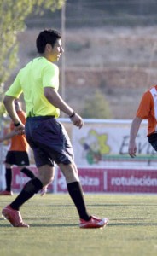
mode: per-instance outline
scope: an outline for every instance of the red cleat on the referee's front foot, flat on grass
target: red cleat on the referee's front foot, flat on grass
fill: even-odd
[[[108,218],[97,218],[91,216],[89,221],[80,219],[79,227],[82,229],[98,229],[106,226],[108,224]]]

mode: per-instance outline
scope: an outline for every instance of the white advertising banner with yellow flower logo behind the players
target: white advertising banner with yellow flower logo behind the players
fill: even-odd
[[[121,165],[127,162],[134,164],[137,160],[148,162],[155,155],[154,149],[148,143],[147,125],[142,125],[137,135],[137,158],[128,155],[130,124],[96,124],[84,125],[81,130],[73,127],[73,150],[78,166],[104,166],[108,161]]]

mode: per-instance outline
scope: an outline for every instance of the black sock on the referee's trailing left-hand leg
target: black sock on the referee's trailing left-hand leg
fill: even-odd
[[[10,204],[10,207],[19,211],[20,207],[42,188],[43,184],[41,181],[37,177],[32,178],[26,183],[20,194],[16,197],[15,201]]]

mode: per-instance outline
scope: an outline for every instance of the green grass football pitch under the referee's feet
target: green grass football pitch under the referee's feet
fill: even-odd
[[[69,195],[34,196],[21,208],[30,228],[0,218],[2,256],[156,256],[157,195],[84,195],[105,229],[81,230]],[[15,198],[1,196],[1,209]]]

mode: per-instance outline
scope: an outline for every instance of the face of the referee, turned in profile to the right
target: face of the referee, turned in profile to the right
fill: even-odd
[[[61,54],[64,52],[62,48],[61,39],[56,40],[54,47],[51,44],[47,44],[47,49],[49,51],[49,61],[59,61]]]

